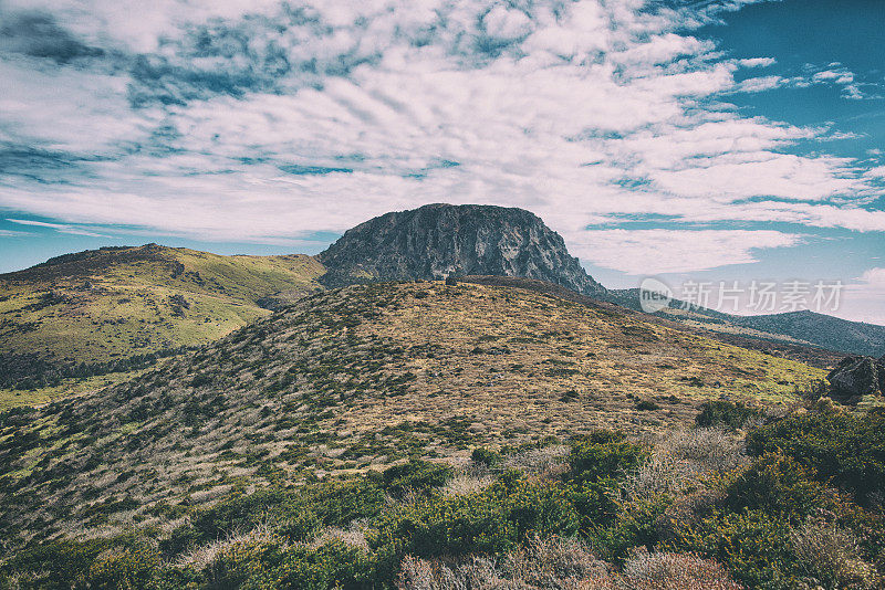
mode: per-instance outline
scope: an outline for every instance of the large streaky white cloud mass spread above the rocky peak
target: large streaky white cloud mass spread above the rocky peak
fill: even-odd
[[[0,60],[9,82],[0,141],[70,152],[75,168],[58,183],[0,176],[0,206],[60,225],[285,241],[426,202],[496,203],[533,210],[582,257],[625,272],[750,263],[754,249],[800,238],[587,224],[659,214],[885,230],[885,213],[862,207],[877,190],[874,171],[785,152],[830,131],[722,103],[784,82],[736,83],[740,67],[773,59],[723,60],[684,32],[689,17],[709,22],[716,3],[688,14],[642,10],[639,0],[521,9],[327,0],[295,3],[304,8],[295,18],[271,1],[160,0],[139,4],[137,19],[128,1],[27,4],[108,51],[154,52],[140,73],[125,61],[90,69]],[[246,13],[253,15],[238,20]],[[262,70],[269,63],[280,72]],[[826,72],[834,77],[819,72],[818,82],[847,75]],[[150,106],[134,107],[133,95]],[[46,158],[34,156],[33,166],[66,173]],[[621,254],[603,238],[620,241]],[[671,249],[649,250],[649,238]]]

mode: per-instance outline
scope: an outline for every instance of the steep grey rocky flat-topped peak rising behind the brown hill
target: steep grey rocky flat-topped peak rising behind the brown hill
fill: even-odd
[[[571,256],[562,238],[522,209],[428,204],[386,213],[348,230],[320,254],[323,282],[524,276],[579,293],[605,288]]]

